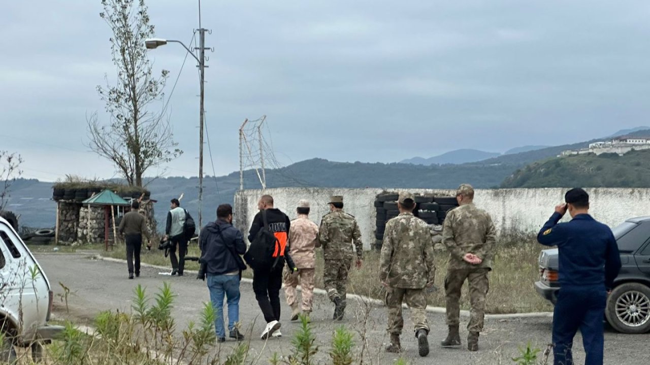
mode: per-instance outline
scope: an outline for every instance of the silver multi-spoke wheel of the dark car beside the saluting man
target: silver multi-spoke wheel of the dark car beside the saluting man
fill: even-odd
[[[621,333],[650,331],[650,288],[640,283],[617,286],[607,298],[605,316]]]

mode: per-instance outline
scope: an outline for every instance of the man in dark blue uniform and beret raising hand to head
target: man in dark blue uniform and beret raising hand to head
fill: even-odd
[[[589,195],[580,188],[564,195],[537,235],[540,244],[557,245],[560,292],[553,313],[555,365],[573,365],[573,336],[580,329],[586,365],[603,364],[603,318],[607,294],[621,268],[612,230],[589,215]],[[569,211],[573,220],[558,223]]]

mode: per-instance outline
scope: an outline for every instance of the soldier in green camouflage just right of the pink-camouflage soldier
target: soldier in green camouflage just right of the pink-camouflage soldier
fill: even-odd
[[[354,250],[356,248],[356,266],[361,268],[363,260],[363,244],[361,231],[354,216],[343,212],[343,197],[333,196],[330,199],[329,214],[320,222],[318,240],[323,247],[325,266],[323,281],[328,297],[334,303],[334,320],[342,320],[346,306],[346,288],[348,286],[348,271],[352,267]]]

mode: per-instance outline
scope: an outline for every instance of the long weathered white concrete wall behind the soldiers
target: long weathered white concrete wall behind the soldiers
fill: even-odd
[[[346,188],[274,188],[261,190],[242,190],[235,195],[235,225],[244,233],[252,224],[257,213],[257,201],[262,194],[274,198],[276,208],[296,217],[298,200],[307,199],[311,203],[311,220],[320,224],[320,218],[329,212],[331,195],[343,195],[344,210],[357,218],[363,245],[369,248],[374,243],[376,195],[389,191],[408,190],[413,193],[434,194],[436,196],[455,195],[454,190],[426,189],[346,189]],[[479,189],[474,203],[490,212],[497,230],[516,229],[537,232],[551,216],[555,205],[564,201],[567,188],[539,189]],[[610,226],[622,221],[650,215],[650,189],[637,188],[587,188],[590,194],[591,214],[594,218]],[[565,217],[567,220],[568,214]]]

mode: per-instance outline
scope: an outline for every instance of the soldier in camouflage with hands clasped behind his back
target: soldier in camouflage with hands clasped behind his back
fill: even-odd
[[[497,234],[489,214],[474,205],[474,188],[471,185],[461,184],[456,190],[456,200],[460,207],[447,212],[443,225],[443,244],[450,253],[445,277],[449,334],[441,344],[443,347],[460,346],[458,302],[463,283],[467,280],[471,304],[467,349],[477,351],[478,333],[483,330],[489,288],[487,272],[492,270],[491,258]]]

